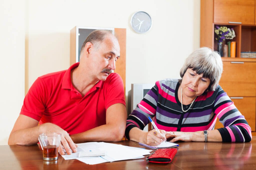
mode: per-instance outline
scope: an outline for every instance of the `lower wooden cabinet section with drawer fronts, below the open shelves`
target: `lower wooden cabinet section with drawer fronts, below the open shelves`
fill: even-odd
[[[220,86],[245,117],[252,131],[256,125],[256,60],[222,58],[223,73]],[[223,127],[217,120],[215,128]]]

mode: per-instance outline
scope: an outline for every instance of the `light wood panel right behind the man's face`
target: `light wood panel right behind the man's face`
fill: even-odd
[[[126,70],[126,29],[125,28],[115,28],[115,36],[118,39],[120,45],[120,58],[116,61],[115,73],[118,73],[124,83],[125,91],[125,70]]]

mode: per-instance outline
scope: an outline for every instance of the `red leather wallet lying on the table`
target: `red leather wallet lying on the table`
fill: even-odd
[[[148,156],[146,160],[152,163],[170,163],[176,153],[176,148],[158,149],[155,153]]]

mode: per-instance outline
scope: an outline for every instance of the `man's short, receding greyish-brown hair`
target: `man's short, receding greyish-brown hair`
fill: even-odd
[[[101,43],[105,39],[106,35],[109,35],[109,34],[112,34],[111,30],[94,30],[94,31],[92,31],[88,35],[86,40],[83,42],[80,54],[82,53],[86,43],[88,43],[88,42],[92,43],[94,45],[94,47],[97,49],[99,43]]]

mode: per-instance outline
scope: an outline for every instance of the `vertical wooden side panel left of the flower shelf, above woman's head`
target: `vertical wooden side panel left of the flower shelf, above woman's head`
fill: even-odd
[[[200,12],[200,47],[213,48],[213,1],[201,0]]]

